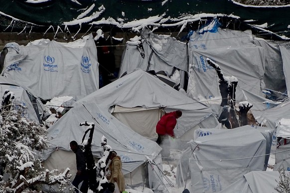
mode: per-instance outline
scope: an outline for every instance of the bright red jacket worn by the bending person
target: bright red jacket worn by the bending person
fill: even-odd
[[[176,125],[176,112],[169,112],[165,113],[160,120],[158,121],[156,125],[156,133],[159,135],[170,135],[171,137],[174,137],[173,129]]]

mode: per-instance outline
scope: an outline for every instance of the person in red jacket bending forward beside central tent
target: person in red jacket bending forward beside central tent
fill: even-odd
[[[168,143],[169,138],[168,135],[171,137],[174,136],[173,129],[177,123],[179,117],[181,117],[182,111],[176,110],[173,112],[165,113],[160,120],[157,122],[156,125],[156,133],[158,134],[158,138],[156,143],[162,147],[161,155],[163,157],[169,157],[170,155],[170,143]]]

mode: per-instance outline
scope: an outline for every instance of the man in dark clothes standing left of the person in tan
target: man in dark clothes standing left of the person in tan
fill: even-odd
[[[75,192],[79,193],[79,184],[83,182],[80,191],[82,193],[87,193],[89,189],[88,175],[86,170],[86,161],[83,151],[79,147],[76,141],[71,141],[69,143],[71,150],[76,154],[77,161],[77,174],[75,179],[72,182],[72,185],[75,187]]]

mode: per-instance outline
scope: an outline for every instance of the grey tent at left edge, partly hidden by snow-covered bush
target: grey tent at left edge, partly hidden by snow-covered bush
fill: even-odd
[[[14,94],[14,102],[26,106],[25,112],[22,115],[30,120],[42,123],[42,118],[45,117],[45,107],[38,97],[30,89],[17,84],[9,78],[0,76],[0,100],[4,95],[5,90],[9,90]]]

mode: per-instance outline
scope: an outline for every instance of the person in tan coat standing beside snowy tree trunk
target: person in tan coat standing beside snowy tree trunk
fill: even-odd
[[[109,170],[111,175],[107,176],[107,179],[111,183],[117,183],[120,192],[125,191],[125,179],[122,172],[122,162],[120,156],[117,152],[113,151],[110,157],[111,163],[109,165]]]

